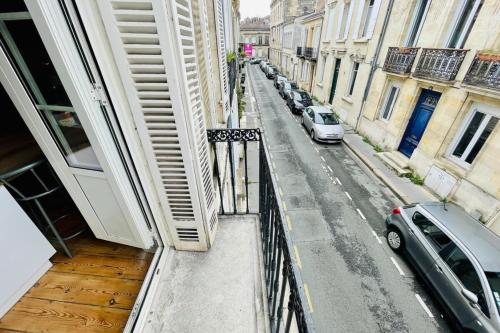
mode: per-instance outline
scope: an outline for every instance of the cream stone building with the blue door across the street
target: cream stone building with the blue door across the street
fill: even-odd
[[[313,94],[387,164],[500,233],[498,1],[334,1],[326,12]]]

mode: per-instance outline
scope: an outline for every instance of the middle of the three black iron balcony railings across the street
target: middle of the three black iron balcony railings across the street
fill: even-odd
[[[453,81],[468,50],[422,49],[414,77],[435,81]]]

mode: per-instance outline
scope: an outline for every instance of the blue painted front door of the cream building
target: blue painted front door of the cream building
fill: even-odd
[[[399,144],[399,151],[405,156],[410,157],[420,142],[439,97],[441,97],[441,93],[426,89],[422,90]]]

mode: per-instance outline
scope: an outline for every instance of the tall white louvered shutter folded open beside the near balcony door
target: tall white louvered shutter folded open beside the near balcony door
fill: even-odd
[[[190,2],[97,3],[174,245],[206,250],[217,215]]]

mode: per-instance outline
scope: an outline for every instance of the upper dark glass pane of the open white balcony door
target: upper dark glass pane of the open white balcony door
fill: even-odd
[[[24,77],[38,104],[71,106],[68,95],[52,65],[32,20],[6,21],[5,25],[21,54],[38,90]],[[26,41],[30,41],[26,43]],[[36,52],[35,52],[36,50]],[[16,59],[17,60],[17,59]],[[43,98],[43,100],[40,100]]]

